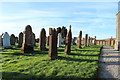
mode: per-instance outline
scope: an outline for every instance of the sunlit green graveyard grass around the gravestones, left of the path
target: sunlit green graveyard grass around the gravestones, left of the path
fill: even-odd
[[[97,78],[100,45],[77,49],[71,47],[71,55],[64,54],[64,45],[58,48],[58,59],[49,60],[48,51],[22,54],[20,48],[3,49],[2,77],[16,78]]]

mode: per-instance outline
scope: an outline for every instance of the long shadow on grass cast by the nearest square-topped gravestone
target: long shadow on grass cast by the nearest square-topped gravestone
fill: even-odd
[[[87,62],[98,62],[98,60],[90,60],[90,59],[76,59],[76,58],[70,58],[70,57],[63,57],[63,56],[58,56],[59,60],[66,60],[66,61],[78,61],[78,62],[82,62],[82,61],[87,61]]]

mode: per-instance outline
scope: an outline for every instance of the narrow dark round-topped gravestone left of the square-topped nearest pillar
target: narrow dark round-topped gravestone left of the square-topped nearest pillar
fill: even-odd
[[[44,28],[41,29],[40,38],[39,38],[39,50],[46,50],[46,31]]]

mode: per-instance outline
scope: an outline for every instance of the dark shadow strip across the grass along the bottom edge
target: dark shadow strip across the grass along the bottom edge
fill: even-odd
[[[2,80],[86,80],[88,78],[74,77],[74,76],[55,76],[50,75],[48,77],[45,74],[35,75],[30,73],[18,73],[18,72],[2,72]],[[90,78],[89,78],[90,79]],[[95,79],[95,78],[91,78]],[[97,79],[97,78],[96,78]]]

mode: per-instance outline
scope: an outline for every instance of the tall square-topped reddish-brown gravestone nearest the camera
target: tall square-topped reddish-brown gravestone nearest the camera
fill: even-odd
[[[55,28],[49,28],[49,51],[48,56],[50,60],[57,58],[57,31]]]

